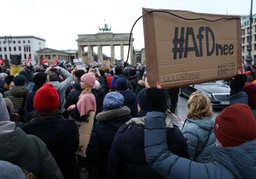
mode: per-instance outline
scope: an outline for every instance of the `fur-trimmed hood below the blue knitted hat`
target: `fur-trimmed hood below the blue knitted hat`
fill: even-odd
[[[129,115],[130,113],[131,113],[131,110],[127,106],[124,106],[122,108],[102,111],[96,116],[96,119],[98,121],[112,120],[112,119],[121,117],[122,115]]]

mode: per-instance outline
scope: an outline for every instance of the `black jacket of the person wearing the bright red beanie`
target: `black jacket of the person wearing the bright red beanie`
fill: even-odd
[[[35,117],[22,130],[38,136],[47,145],[64,178],[80,178],[75,154],[79,143],[78,127],[73,120],[66,120],[62,115]]]

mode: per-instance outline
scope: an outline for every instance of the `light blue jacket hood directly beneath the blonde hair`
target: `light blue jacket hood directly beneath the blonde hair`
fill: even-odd
[[[213,125],[215,122],[215,119],[213,116],[211,117],[203,117],[201,120],[200,119],[194,119],[194,118],[189,118],[187,119],[188,122],[197,124],[199,127],[205,130],[211,130],[213,129]]]

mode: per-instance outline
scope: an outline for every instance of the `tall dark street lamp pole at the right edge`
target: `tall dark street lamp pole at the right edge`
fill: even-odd
[[[249,26],[249,38],[248,38],[248,55],[246,56],[246,70],[250,69],[252,66],[253,58],[252,58],[252,24],[253,24],[253,0],[250,1],[250,26]]]

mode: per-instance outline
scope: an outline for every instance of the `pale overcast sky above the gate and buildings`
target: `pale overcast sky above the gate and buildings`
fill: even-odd
[[[38,36],[46,47],[57,50],[77,49],[78,34],[96,34],[104,19],[113,33],[129,33],[143,7],[250,14],[250,0],[0,0],[0,6],[0,36]],[[133,34],[134,48],[143,48],[142,19]]]

